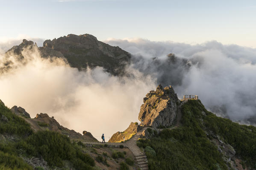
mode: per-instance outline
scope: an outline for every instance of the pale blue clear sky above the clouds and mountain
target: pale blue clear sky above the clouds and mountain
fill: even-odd
[[[0,0],[0,38],[141,37],[256,48],[256,0]]]

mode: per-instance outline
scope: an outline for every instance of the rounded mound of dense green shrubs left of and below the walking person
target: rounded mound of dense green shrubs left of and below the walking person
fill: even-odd
[[[91,156],[82,153],[76,145],[71,144],[67,136],[53,131],[38,131],[19,142],[17,148],[32,156],[42,155],[50,166],[62,167],[62,160],[71,161],[74,167],[87,169],[92,169],[91,166],[95,165]]]

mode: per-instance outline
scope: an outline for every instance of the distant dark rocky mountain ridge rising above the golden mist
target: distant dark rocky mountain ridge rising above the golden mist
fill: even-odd
[[[53,40],[45,40],[43,47],[37,47],[32,41],[23,40],[20,45],[16,45],[6,52],[5,63],[0,71],[12,68],[15,59],[26,64],[26,59],[22,55],[24,48],[36,48],[41,57],[62,57],[67,60],[71,67],[79,70],[86,68],[103,67],[113,75],[124,74],[124,68],[130,62],[131,55],[121,48],[100,42],[90,34],[75,35],[68,34]],[[15,57],[13,58],[13,55]],[[11,58],[11,59],[10,59]]]

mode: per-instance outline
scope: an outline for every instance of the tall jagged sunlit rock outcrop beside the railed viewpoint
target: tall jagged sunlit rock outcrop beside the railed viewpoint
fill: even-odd
[[[144,104],[138,119],[145,126],[170,127],[174,123],[179,99],[174,89],[158,85],[156,91],[150,91],[143,99]]]

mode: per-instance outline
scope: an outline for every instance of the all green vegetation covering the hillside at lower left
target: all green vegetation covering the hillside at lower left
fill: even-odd
[[[32,170],[23,157],[42,156],[51,167],[63,167],[63,160],[70,161],[76,170],[93,170],[94,159],[82,153],[79,145],[71,143],[67,136],[44,130],[33,133],[30,125],[8,108],[0,104],[0,116],[8,121],[0,121],[0,134],[15,137],[15,142],[0,141],[0,170]]]

